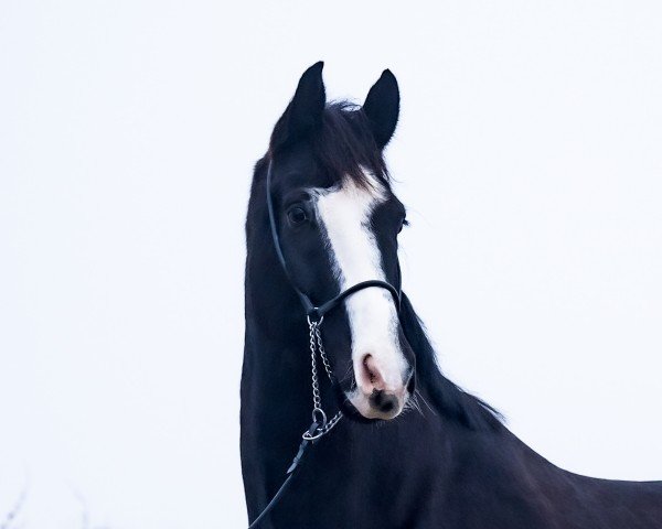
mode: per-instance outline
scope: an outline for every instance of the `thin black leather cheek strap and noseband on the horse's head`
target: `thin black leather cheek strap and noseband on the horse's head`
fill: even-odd
[[[306,315],[312,320],[320,320],[329,311],[338,306],[345,298],[359,292],[363,289],[369,289],[371,287],[377,287],[380,289],[385,289],[391,292],[393,295],[393,300],[395,301],[395,305],[399,312],[401,305],[401,290],[396,289],[393,284],[387,283],[386,281],[382,281],[380,279],[370,279],[367,281],[361,281],[360,283],[353,284],[352,287],[343,290],[338,295],[327,301],[325,303],[321,303],[316,305],[310,298],[301,292],[301,290],[297,287],[297,283],[293,281],[288,268],[287,262],[285,261],[285,256],[282,253],[282,248],[280,247],[280,238],[278,237],[278,225],[276,223],[276,212],[274,208],[274,198],[271,197],[271,166],[273,162],[269,160],[269,168],[267,169],[267,207],[269,209],[269,224],[271,226],[271,238],[274,239],[274,247],[276,248],[276,255],[278,256],[278,260],[280,261],[280,266],[287,276],[289,283],[297,292],[297,295],[301,300],[301,304],[303,305],[303,310],[306,311]],[[398,276],[399,276],[399,262],[398,262]]]

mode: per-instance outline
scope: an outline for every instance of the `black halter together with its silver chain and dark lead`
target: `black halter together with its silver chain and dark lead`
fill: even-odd
[[[395,305],[399,312],[401,305],[401,291],[393,287],[393,284],[387,283],[386,281],[382,281],[378,279],[371,279],[367,281],[361,281],[360,283],[353,284],[349,289],[345,289],[338,293],[331,300],[316,305],[306,293],[303,293],[296,284],[290,274],[287,262],[285,261],[285,255],[282,253],[282,248],[280,247],[280,238],[278,237],[278,225],[276,223],[276,212],[274,208],[274,198],[271,197],[271,172],[273,172],[273,162],[269,160],[269,166],[267,169],[267,182],[266,182],[266,192],[267,192],[267,208],[269,210],[269,225],[271,228],[271,238],[274,239],[274,248],[276,249],[276,255],[278,256],[278,260],[280,261],[280,266],[287,277],[289,283],[292,289],[301,300],[301,304],[303,305],[303,310],[306,311],[306,317],[308,320],[308,330],[310,337],[310,369],[311,369],[311,378],[312,378],[312,424],[308,430],[303,432],[302,441],[299,446],[299,451],[290,467],[287,469],[287,478],[278,489],[278,492],[274,495],[269,504],[265,507],[265,509],[259,514],[259,516],[250,523],[248,529],[254,529],[259,525],[259,522],[266,517],[266,515],[274,508],[274,506],[278,503],[278,500],[282,497],[287,486],[289,485],[295,471],[298,468],[303,454],[306,453],[306,449],[311,444],[317,442],[320,438],[325,435],[331,431],[331,429],[338,424],[338,422],[342,419],[342,411],[339,411],[331,419],[327,419],[327,413],[322,409],[321,396],[320,396],[320,386],[318,379],[318,369],[317,369],[317,356],[319,354],[322,365],[324,366],[324,370],[329,377],[331,384],[334,384],[333,370],[331,369],[331,364],[329,363],[329,358],[327,357],[327,353],[324,350],[324,346],[322,344],[322,335],[320,332],[320,326],[324,320],[324,315],[335,309],[341,304],[346,298],[352,294],[355,294],[360,290],[369,289],[372,287],[376,287],[380,289],[385,289],[391,292],[393,295],[393,300]],[[399,282],[399,263],[397,267],[398,282]]]

